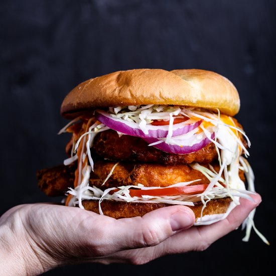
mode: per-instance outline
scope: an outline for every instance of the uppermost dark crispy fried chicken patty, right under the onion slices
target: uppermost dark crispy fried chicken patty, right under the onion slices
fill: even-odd
[[[191,154],[169,154],[154,147],[149,147],[140,137],[119,135],[108,129],[95,137],[93,148],[100,156],[110,160],[129,160],[143,163],[161,163],[168,165],[190,164],[198,162],[211,163],[217,159],[217,152],[213,143]]]

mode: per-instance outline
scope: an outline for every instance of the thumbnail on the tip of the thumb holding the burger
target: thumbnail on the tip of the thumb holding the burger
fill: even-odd
[[[178,211],[171,215],[170,223],[173,231],[184,230],[194,224],[194,217],[185,211]]]

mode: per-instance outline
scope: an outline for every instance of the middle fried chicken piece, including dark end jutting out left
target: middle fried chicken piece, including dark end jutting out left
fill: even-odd
[[[143,184],[145,187],[167,187],[179,182],[188,182],[200,179],[191,185],[209,184],[209,180],[199,171],[189,165],[163,165],[163,164],[137,164],[132,162],[120,162],[112,175],[102,183],[110,173],[115,162],[98,161],[91,172],[89,184],[100,189],[111,187]],[[208,167],[208,166],[206,166]],[[219,165],[213,164],[215,171],[219,171]],[[63,195],[74,184],[75,165],[58,166],[52,169],[38,172],[39,187],[49,196]],[[239,177],[244,181],[244,174],[239,171]]]

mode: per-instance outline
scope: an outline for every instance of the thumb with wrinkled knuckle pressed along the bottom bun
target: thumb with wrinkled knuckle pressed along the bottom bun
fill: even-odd
[[[194,212],[186,206],[170,206],[147,213],[143,217],[123,218],[112,225],[114,251],[155,246],[176,232],[191,227]]]

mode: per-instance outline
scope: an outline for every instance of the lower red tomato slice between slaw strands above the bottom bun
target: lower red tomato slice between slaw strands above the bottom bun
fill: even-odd
[[[175,195],[195,195],[200,194],[206,190],[208,184],[184,186],[184,187],[167,187],[162,189],[129,189],[129,195],[131,197],[142,197],[142,196],[175,196]]]

